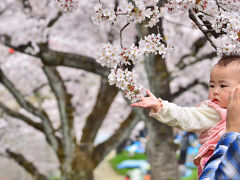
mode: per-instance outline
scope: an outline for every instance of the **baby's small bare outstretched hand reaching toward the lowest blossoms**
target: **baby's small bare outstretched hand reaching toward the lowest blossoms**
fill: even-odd
[[[155,112],[161,109],[161,102],[149,91],[147,90],[148,97],[143,97],[137,103],[131,104],[132,107],[142,107],[142,108],[151,108]]]

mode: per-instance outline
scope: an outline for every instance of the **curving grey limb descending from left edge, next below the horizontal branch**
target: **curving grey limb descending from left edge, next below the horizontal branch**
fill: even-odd
[[[54,135],[54,129],[48,118],[47,113],[42,109],[37,109],[30,102],[25,100],[22,94],[16,89],[14,84],[5,76],[1,69],[0,69],[0,82],[9,90],[9,92],[13,95],[13,97],[21,107],[23,107],[28,112],[32,113],[33,115],[39,117],[42,120],[45,137],[47,141],[50,143],[50,145],[53,146],[55,152],[57,152],[59,140]]]

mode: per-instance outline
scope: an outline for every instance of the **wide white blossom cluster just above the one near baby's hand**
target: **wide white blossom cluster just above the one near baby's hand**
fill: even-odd
[[[162,42],[160,34],[151,34],[139,41],[139,46],[134,43],[130,47],[116,47],[110,43],[102,44],[99,48],[97,62],[108,68],[116,68],[118,65],[130,65],[130,61],[136,64],[144,54],[160,54],[163,57],[172,50]]]

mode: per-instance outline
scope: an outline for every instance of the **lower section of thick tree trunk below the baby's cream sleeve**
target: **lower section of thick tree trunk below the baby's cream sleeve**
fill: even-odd
[[[152,180],[178,180],[172,128],[160,124],[155,119],[148,120],[147,128],[149,135],[147,155]]]

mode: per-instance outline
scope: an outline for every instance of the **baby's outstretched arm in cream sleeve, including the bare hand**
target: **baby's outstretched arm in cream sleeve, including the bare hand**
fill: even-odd
[[[157,99],[149,90],[148,97],[131,104],[132,107],[150,108],[150,116],[158,121],[183,131],[200,132],[215,126],[220,115],[214,108],[207,105],[200,107],[180,107]]]

